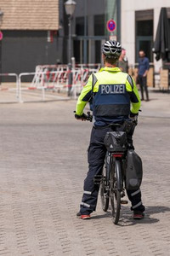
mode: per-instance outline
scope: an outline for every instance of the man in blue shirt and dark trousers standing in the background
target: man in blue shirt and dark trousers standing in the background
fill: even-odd
[[[146,95],[146,102],[149,101],[148,87],[147,87],[147,73],[150,68],[150,61],[145,57],[144,50],[139,51],[139,68],[138,68],[138,82],[141,91],[141,101],[144,101],[144,90]]]

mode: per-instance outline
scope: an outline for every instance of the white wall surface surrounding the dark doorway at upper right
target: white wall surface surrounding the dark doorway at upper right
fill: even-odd
[[[135,11],[154,9],[154,38],[161,7],[170,7],[170,0],[122,0],[122,47],[127,49],[129,64],[135,61]],[[156,61],[156,72],[161,67],[161,61]]]

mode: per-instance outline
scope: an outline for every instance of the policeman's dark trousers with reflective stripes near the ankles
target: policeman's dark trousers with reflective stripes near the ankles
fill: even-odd
[[[90,214],[91,212],[94,212],[97,206],[99,185],[94,184],[94,176],[102,174],[103,166],[105,164],[106,148],[104,138],[107,131],[111,131],[111,128],[105,127],[103,129],[97,129],[93,127],[92,129],[88,147],[88,174],[84,180],[84,191],[80,206],[80,212],[82,214]],[[130,143],[133,143],[132,136],[130,137]],[[127,190],[127,196],[132,203],[131,210],[144,212],[140,189]]]

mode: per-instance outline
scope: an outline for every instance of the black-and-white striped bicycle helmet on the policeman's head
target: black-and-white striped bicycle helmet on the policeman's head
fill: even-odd
[[[116,41],[106,41],[102,46],[102,52],[108,57],[119,57],[122,52],[122,45]]]

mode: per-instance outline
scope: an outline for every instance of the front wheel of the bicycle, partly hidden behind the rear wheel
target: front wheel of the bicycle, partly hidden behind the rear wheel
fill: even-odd
[[[106,166],[103,168],[103,178],[102,182],[100,183],[100,198],[101,198],[101,207],[104,212],[107,212],[109,208],[109,200],[110,195],[109,190],[106,190],[107,185],[107,176],[106,176]]]

